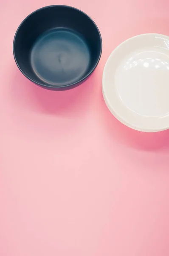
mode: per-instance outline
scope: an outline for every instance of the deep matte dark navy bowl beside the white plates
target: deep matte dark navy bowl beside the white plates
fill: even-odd
[[[94,21],[70,6],[46,6],[31,13],[14,36],[14,59],[32,82],[66,90],[86,80],[99,63],[101,35]]]

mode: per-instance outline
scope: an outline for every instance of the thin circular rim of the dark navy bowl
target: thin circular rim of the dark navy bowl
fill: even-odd
[[[93,22],[93,24],[95,25],[97,31],[99,32],[99,38],[100,38],[100,43],[101,43],[99,57],[98,57],[98,60],[97,60],[97,62],[96,62],[96,64],[95,64],[95,66],[92,68],[92,70],[90,70],[90,72],[87,73],[87,75],[86,75],[85,77],[83,77],[82,79],[80,79],[79,81],[76,81],[76,82],[74,82],[74,83],[72,83],[72,84],[66,84],[66,85],[63,85],[63,86],[54,86],[54,85],[42,84],[42,83],[39,83],[39,82],[34,81],[34,79],[31,79],[31,78],[30,78],[29,76],[27,76],[27,75],[23,72],[23,70],[20,68],[19,64],[17,63],[17,59],[16,59],[15,51],[14,51],[14,44],[15,44],[15,38],[16,38],[17,32],[18,32],[18,30],[20,29],[20,27],[22,26],[22,24],[25,22],[25,20],[26,20],[29,16],[31,16],[32,14],[34,14],[34,13],[36,13],[36,12],[42,10],[42,9],[51,8],[51,7],[66,7],[66,8],[74,9],[74,10],[76,10],[76,11],[79,11],[79,12],[82,12],[83,14],[85,14],[85,15]],[[14,35],[14,41],[13,41],[13,55],[14,55],[14,60],[15,60],[15,62],[16,62],[16,64],[17,64],[17,67],[19,68],[19,70],[23,73],[23,75],[24,75],[27,79],[29,79],[29,80],[32,81],[33,83],[38,84],[39,86],[42,86],[42,87],[53,88],[53,89],[54,89],[54,88],[56,88],[56,89],[57,89],[57,88],[58,88],[58,89],[60,88],[60,89],[61,89],[61,88],[73,87],[73,86],[76,86],[76,85],[78,85],[78,84],[81,84],[81,83],[82,83],[85,79],[87,79],[87,78],[91,75],[91,73],[93,73],[93,71],[96,69],[96,67],[97,67],[97,65],[98,65],[98,63],[99,63],[99,61],[100,61],[100,58],[101,58],[101,53],[102,53],[102,38],[101,38],[101,33],[100,33],[100,31],[99,31],[98,26],[96,25],[96,23],[92,20],[92,18],[91,18],[89,15],[87,15],[85,12],[83,12],[83,11],[81,11],[80,9],[77,9],[77,8],[75,8],[75,7],[73,7],[73,6],[67,6],[67,5],[50,5],[50,6],[41,7],[41,8],[39,8],[39,9],[35,10],[34,12],[31,12],[27,17],[25,17],[25,19],[20,23],[20,26],[17,28],[17,31],[15,32],[15,35]]]

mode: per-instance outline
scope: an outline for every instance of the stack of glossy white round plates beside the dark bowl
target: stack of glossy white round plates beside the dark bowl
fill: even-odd
[[[138,35],[124,41],[104,67],[102,91],[111,113],[135,130],[169,128],[169,37]]]

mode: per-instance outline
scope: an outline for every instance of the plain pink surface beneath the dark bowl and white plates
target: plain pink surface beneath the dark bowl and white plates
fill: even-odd
[[[167,2],[1,1],[0,256],[169,255],[169,131],[130,130],[101,94],[119,43],[169,35]],[[17,26],[50,4],[82,9],[103,39],[96,72],[70,91],[37,87],[13,59]]]

